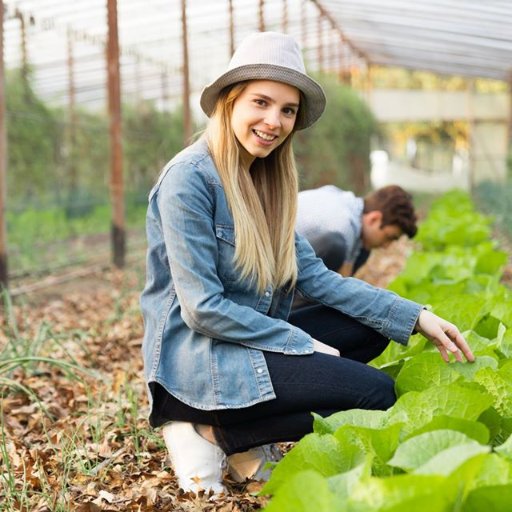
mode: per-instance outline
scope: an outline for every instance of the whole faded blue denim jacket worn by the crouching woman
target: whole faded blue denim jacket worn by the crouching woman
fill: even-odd
[[[292,288],[259,293],[240,278],[233,218],[204,140],[163,169],[149,195],[147,240],[146,382],[204,410],[274,399],[263,352],[307,357],[313,340],[286,321]],[[328,270],[301,236],[295,245],[296,290],[407,343],[419,304]]]

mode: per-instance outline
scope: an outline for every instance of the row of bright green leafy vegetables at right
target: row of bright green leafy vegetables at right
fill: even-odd
[[[512,510],[512,302],[490,223],[446,194],[390,286],[457,324],[476,362],[447,365],[421,335],[391,343],[371,364],[395,378],[395,405],[315,415],[262,490],[267,512]]]

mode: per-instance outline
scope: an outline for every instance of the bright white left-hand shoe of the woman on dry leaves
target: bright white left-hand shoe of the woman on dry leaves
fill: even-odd
[[[226,455],[217,445],[201,437],[192,423],[184,421],[168,423],[162,434],[174,473],[184,491],[226,492],[222,485]]]

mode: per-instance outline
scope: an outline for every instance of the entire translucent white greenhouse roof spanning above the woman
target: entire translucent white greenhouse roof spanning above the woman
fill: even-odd
[[[364,61],[511,80],[512,0],[186,0],[192,94],[229,60],[230,3],[235,45],[261,27],[263,6],[265,29],[296,37],[310,71]],[[77,103],[104,104],[107,1],[4,4],[6,66],[28,61],[37,91],[57,102],[70,95],[72,73]],[[117,0],[125,99],[181,101],[181,4]]]

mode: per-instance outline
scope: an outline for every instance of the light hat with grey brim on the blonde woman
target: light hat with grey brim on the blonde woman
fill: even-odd
[[[257,32],[246,37],[237,48],[228,69],[201,94],[201,108],[210,117],[217,98],[228,85],[245,80],[273,80],[297,87],[306,101],[301,130],[311,126],[325,109],[322,87],[306,74],[297,41],[278,32]]]

